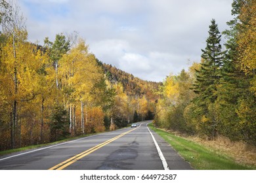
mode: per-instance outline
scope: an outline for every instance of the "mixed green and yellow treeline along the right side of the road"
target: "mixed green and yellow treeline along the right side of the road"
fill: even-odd
[[[256,3],[235,0],[226,49],[215,20],[201,63],[168,76],[161,87],[156,125],[207,139],[223,135],[256,145]]]

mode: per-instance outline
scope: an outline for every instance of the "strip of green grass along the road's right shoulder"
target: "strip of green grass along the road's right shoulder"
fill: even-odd
[[[161,129],[156,129],[152,124],[148,125],[156,131],[166,142],[186,160],[194,169],[198,170],[251,170],[256,169],[249,165],[238,163],[234,158],[221,154],[217,150],[207,148],[197,142],[189,141]]]

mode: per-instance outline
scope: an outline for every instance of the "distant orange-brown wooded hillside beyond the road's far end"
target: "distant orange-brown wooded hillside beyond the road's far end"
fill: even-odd
[[[127,124],[127,119],[129,122],[153,120],[161,82],[141,80],[112,65],[101,65],[110,84],[117,84],[119,95],[116,96],[116,104],[119,105],[115,105],[114,109],[119,112],[116,112],[118,115],[114,115],[114,118],[119,121],[119,126]]]

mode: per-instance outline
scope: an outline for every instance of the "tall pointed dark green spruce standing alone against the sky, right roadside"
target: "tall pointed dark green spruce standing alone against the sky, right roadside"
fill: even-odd
[[[214,138],[217,135],[219,120],[213,110],[213,104],[217,100],[217,88],[220,84],[221,67],[226,51],[222,51],[221,34],[214,19],[211,20],[208,33],[205,50],[202,50],[201,67],[196,70],[193,89],[198,95],[193,103],[198,121],[202,122],[200,127],[203,133]]]

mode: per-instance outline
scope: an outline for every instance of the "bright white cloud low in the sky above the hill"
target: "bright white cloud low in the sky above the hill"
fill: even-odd
[[[169,53],[150,52],[148,55],[136,53],[125,53],[119,59],[118,67],[128,73],[138,76],[144,80],[162,81],[165,76],[178,74],[185,69],[183,60],[188,62],[186,56],[173,55]],[[161,72],[159,72],[161,71]]]

